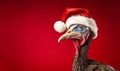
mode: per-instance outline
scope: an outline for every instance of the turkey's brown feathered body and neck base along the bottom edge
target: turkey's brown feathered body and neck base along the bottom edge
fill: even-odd
[[[113,67],[96,62],[91,59],[85,61],[80,60],[78,57],[74,58],[73,71],[117,71]]]

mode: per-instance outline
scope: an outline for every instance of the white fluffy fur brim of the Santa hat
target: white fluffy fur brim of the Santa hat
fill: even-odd
[[[72,24],[83,24],[85,26],[88,26],[94,33],[93,39],[97,37],[98,27],[94,19],[78,15],[71,16],[66,20],[66,27],[69,28]]]

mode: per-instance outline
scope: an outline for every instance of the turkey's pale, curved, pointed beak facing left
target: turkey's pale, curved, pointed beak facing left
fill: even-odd
[[[68,30],[65,34],[59,37],[58,42],[65,39],[76,39],[78,36],[80,36],[80,33]]]

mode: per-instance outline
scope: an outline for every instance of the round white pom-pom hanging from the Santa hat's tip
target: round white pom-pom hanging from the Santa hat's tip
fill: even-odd
[[[66,30],[66,25],[62,21],[57,21],[54,24],[54,29],[55,29],[55,31],[57,31],[59,33],[62,33],[62,32],[64,32]]]

